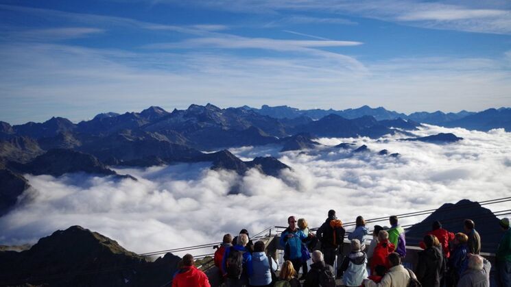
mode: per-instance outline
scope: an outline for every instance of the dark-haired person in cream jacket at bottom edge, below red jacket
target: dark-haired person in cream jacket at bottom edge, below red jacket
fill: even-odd
[[[412,271],[405,269],[401,265],[401,256],[394,252],[389,254],[389,262],[392,267],[383,278],[381,282],[375,283],[371,279],[364,280],[364,286],[366,287],[406,287],[410,281],[411,276],[415,276]]]

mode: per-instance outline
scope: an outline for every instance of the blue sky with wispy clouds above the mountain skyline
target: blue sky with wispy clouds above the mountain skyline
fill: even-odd
[[[510,35],[500,0],[0,1],[0,121],[510,106]]]

